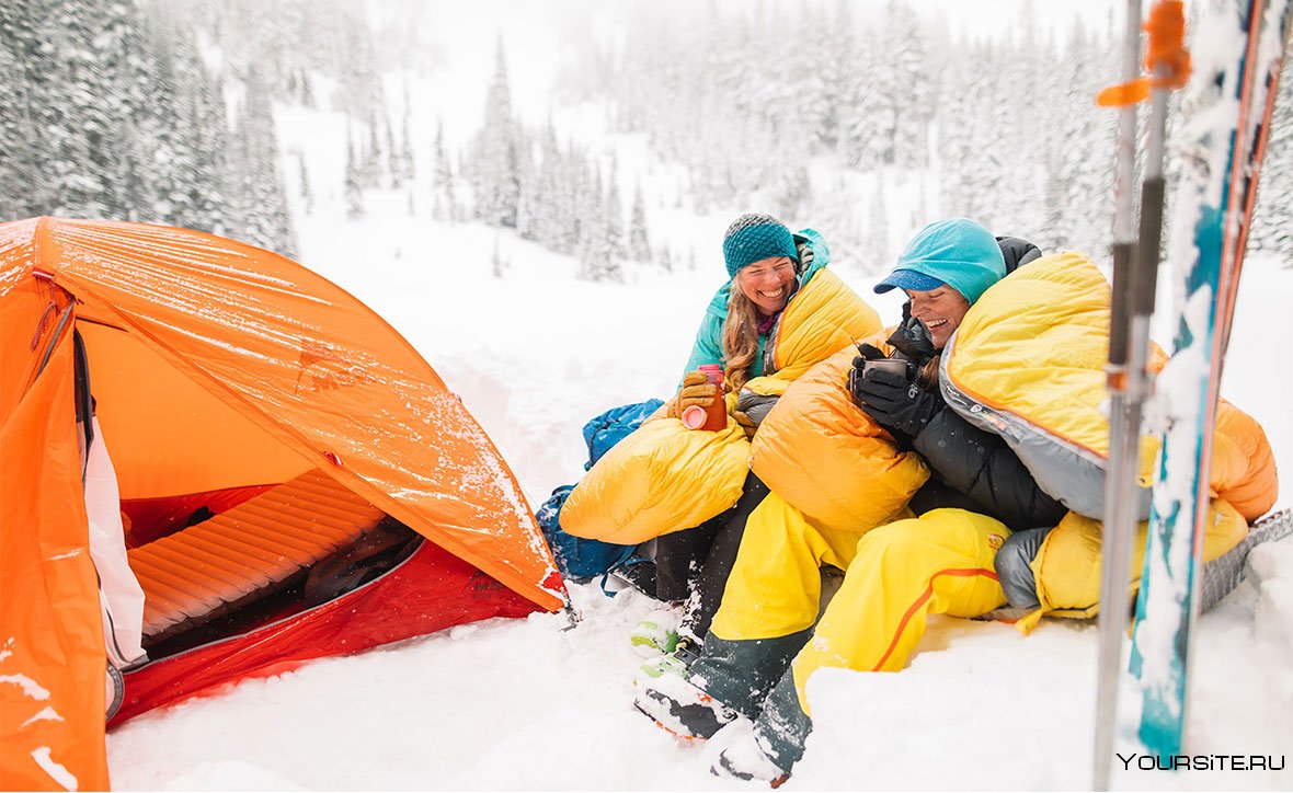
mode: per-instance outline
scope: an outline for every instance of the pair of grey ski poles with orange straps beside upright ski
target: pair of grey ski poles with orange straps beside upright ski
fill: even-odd
[[[1122,638],[1127,628],[1131,537],[1139,518],[1135,480],[1139,473],[1140,420],[1149,395],[1149,318],[1153,314],[1162,239],[1164,142],[1168,90],[1181,80],[1183,14],[1181,3],[1160,0],[1144,30],[1149,34],[1152,81],[1138,79],[1140,3],[1127,0],[1122,68],[1125,81],[1100,93],[1102,106],[1117,106],[1118,168],[1113,227],[1113,305],[1109,319],[1109,460],[1104,479],[1099,648],[1096,663],[1095,756],[1091,785],[1109,787],[1117,732],[1117,694],[1122,668]],[[1179,25],[1178,25],[1179,23]],[[1152,92],[1151,92],[1152,89]],[[1140,196],[1140,229],[1133,231],[1135,208],[1137,103],[1152,93],[1146,150],[1146,178]]]

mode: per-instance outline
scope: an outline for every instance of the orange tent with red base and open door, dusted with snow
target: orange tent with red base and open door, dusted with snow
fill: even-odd
[[[125,670],[125,714],[306,657],[562,604],[551,553],[481,427],[381,318],[300,265],[180,229],[0,223],[0,327],[5,789],[109,783],[112,633],[87,537],[94,443],[110,453],[124,515],[112,517],[146,594],[145,648],[149,624],[175,635],[207,611],[246,610],[264,581],[277,593],[273,608],[225,633],[208,625],[173,657],[158,639]],[[78,409],[87,386],[96,422]],[[378,522],[429,542],[410,533],[411,555],[340,599],[292,599],[312,566]]]

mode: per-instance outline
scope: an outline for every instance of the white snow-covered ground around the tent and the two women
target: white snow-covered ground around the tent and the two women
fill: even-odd
[[[513,54],[513,74],[525,72],[518,61]],[[469,92],[482,87],[484,76],[458,88],[434,77],[415,87],[415,96],[450,92],[434,94],[434,102],[462,102],[469,118],[478,118],[482,90]],[[418,125],[429,129],[436,105],[416,110]],[[315,211],[305,216],[296,207],[301,261],[372,306],[422,351],[491,435],[534,506],[582,471],[579,427],[588,417],[670,393],[701,311],[725,278],[723,229],[736,213],[760,209],[696,217],[649,198],[653,244],[667,239],[675,254],[681,252],[675,257],[681,270],[666,276],[639,267],[623,285],[593,284],[575,278],[574,258],[509,232],[437,223],[425,212],[410,217],[402,192],[374,192],[367,217],[348,221],[340,191],[344,121],[294,108],[281,108],[278,121],[284,150],[305,154],[315,185]],[[557,123],[570,124],[570,116]],[[649,177],[640,139],[608,145],[621,155],[623,178],[637,170]],[[288,170],[292,161],[284,158]],[[646,185],[650,191],[650,178]],[[829,239],[831,230],[821,231]],[[495,245],[508,262],[502,279],[491,274]],[[687,269],[689,251],[696,270]],[[873,296],[861,265],[846,260],[833,267],[873,298],[886,320],[897,318],[899,298]],[[1160,307],[1166,304],[1160,300]],[[1280,329],[1289,306],[1293,270],[1254,257],[1223,389],[1262,421],[1285,473],[1293,471],[1293,373]],[[1168,341],[1166,333],[1157,337]],[[1293,505],[1293,496],[1287,491],[1279,505]],[[1287,767],[1293,540],[1263,549],[1261,564],[1268,573],[1262,592],[1245,584],[1202,619],[1190,744],[1196,754],[1272,754]],[[595,585],[570,594],[583,615],[573,630],[560,630],[553,615],[463,625],[145,714],[107,737],[112,784],[190,790],[751,787],[707,771],[741,725],[707,745],[690,745],[631,708],[640,659],[627,634],[652,602],[632,592],[605,598]],[[1047,620],[1023,637],[1006,625],[935,619],[906,670],[828,670],[812,681],[816,731],[786,789],[1085,788],[1094,677],[1094,624]],[[1115,771],[1122,788],[1293,788],[1287,768]]]

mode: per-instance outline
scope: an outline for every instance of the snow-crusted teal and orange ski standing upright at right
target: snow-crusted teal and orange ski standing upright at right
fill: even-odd
[[[1130,673],[1140,709],[1124,725],[1160,758],[1182,753],[1197,571],[1208,515],[1218,384],[1244,260],[1290,0],[1209,0],[1195,23],[1193,79],[1175,132],[1183,163],[1169,257],[1174,354],[1156,381],[1156,462]]]

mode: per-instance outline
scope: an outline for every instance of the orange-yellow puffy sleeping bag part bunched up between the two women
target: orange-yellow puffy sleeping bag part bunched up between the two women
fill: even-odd
[[[888,353],[882,331],[866,341]],[[834,531],[861,532],[903,517],[930,478],[915,452],[899,452],[892,435],[848,393],[857,349],[846,346],[786,389],[754,438],[750,468],[790,505]]]

